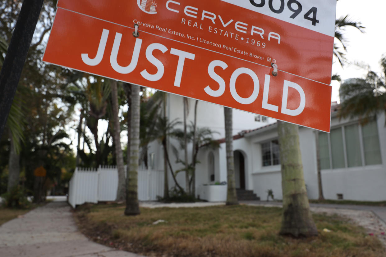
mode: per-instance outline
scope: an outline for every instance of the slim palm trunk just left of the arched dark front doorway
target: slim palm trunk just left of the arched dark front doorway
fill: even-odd
[[[227,151],[227,178],[228,178],[228,193],[227,193],[227,205],[239,204],[236,195],[236,182],[235,182],[235,165],[233,158],[233,135],[232,135],[232,111],[233,109],[224,107],[225,118],[225,144]]]

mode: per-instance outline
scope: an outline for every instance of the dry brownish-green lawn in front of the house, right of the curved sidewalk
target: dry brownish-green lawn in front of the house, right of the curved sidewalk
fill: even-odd
[[[75,216],[94,241],[147,256],[386,256],[376,237],[336,215],[313,215],[319,236],[294,239],[278,235],[281,208],[141,208],[139,216],[123,213],[122,205],[93,205]],[[153,225],[157,220],[165,222]]]

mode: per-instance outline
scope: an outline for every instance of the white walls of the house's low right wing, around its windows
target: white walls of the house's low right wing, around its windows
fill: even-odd
[[[339,127],[349,120],[333,118],[332,128]],[[386,200],[386,128],[384,113],[378,115],[378,136],[382,156],[382,164],[367,165],[352,168],[322,170],[323,195],[326,199],[337,199],[342,193],[347,200],[384,201]],[[300,127],[300,150],[303,163],[304,179],[308,198],[318,198],[316,131]],[[234,146],[245,149],[250,160],[245,160],[248,176],[248,188],[252,189],[262,200],[266,199],[268,189],[272,189],[276,199],[282,199],[280,165],[262,166],[261,143],[277,138],[276,126],[258,130],[246,135],[245,138],[234,141]],[[248,146],[247,142],[251,142]],[[234,148],[234,149],[237,149]],[[250,157],[251,156],[251,157]],[[251,163],[251,168],[248,164]],[[246,175],[247,176],[247,175]],[[252,184],[252,186],[251,186]]]

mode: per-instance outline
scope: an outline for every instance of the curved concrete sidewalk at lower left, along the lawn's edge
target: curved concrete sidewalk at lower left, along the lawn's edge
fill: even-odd
[[[51,202],[0,226],[0,257],[139,257],[88,240],[66,202]]]

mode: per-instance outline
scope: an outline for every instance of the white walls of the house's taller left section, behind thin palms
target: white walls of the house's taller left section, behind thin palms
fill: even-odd
[[[194,99],[188,99],[189,112],[187,116],[187,124],[191,124],[194,121]],[[174,94],[168,94],[167,99],[167,108],[166,113],[169,121],[173,121],[178,118],[179,121],[183,122],[183,97],[177,96]],[[232,134],[237,134],[245,129],[255,129],[260,126],[264,126],[267,122],[257,122],[255,121],[256,114],[247,113],[244,111],[233,110],[233,132]],[[268,118],[269,123],[273,123],[273,119]],[[197,105],[197,127],[208,127],[215,133],[213,133],[213,139],[220,139],[225,137],[225,123],[224,123],[224,109],[223,106],[217,104],[212,104],[209,102],[199,101]],[[180,129],[183,129],[183,124],[179,126]],[[176,157],[173,153],[171,145],[174,145],[178,148],[179,158],[185,159],[185,152],[183,149],[179,148],[179,143],[172,138],[169,138],[168,141],[168,152],[171,165],[173,170],[179,170],[183,168],[183,165],[176,163]],[[149,144],[148,154],[154,152],[156,155],[157,169],[163,169],[163,149],[159,142],[152,142]],[[157,154],[158,153],[158,154]],[[200,163],[196,165],[196,189],[198,186],[208,183],[208,153],[206,150],[200,150],[198,155],[198,160]],[[222,144],[222,147],[218,150],[213,151],[215,156],[215,181],[227,181],[227,168],[226,168],[226,150],[225,144]],[[191,162],[191,144],[188,144],[188,159]],[[244,156],[245,157],[245,156]],[[247,166],[247,165],[246,165]],[[169,171],[170,172],[170,171]],[[174,186],[173,178],[169,174],[169,188]],[[176,176],[178,183],[185,187],[185,172],[180,172]],[[248,186],[246,179],[245,186]],[[250,185],[251,186],[251,185]]]

